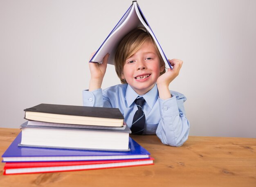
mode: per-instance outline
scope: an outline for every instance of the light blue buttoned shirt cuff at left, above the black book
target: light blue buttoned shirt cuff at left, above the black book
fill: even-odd
[[[83,106],[102,107],[102,89],[94,91],[83,90]]]

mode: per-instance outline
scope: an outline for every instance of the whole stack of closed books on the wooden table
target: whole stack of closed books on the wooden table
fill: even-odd
[[[2,155],[5,175],[153,164],[119,109],[40,104],[25,119]]]

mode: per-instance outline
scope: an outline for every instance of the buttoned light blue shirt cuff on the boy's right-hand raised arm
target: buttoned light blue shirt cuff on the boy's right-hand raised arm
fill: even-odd
[[[162,117],[177,116],[180,114],[176,96],[163,100],[159,98],[159,108]]]

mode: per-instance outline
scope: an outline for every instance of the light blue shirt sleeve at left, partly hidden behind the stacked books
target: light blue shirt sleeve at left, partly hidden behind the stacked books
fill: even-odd
[[[94,91],[83,90],[83,106],[112,107],[107,96],[103,96],[102,89]]]

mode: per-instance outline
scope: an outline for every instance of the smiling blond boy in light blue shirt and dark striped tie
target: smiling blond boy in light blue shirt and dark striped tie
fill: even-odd
[[[165,72],[153,38],[142,28],[134,29],[121,40],[115,54],[122,85],[102,90],[108,56],[102,64],[89,63],[91,79],[89,90],[83,91],[83,105],[119,108],[132,134],[156,134],[166,145],[181,146],[189,135],[186,98],[170,92],[168,86],[179,74],[182,61],[169,60],[173,69]]]

